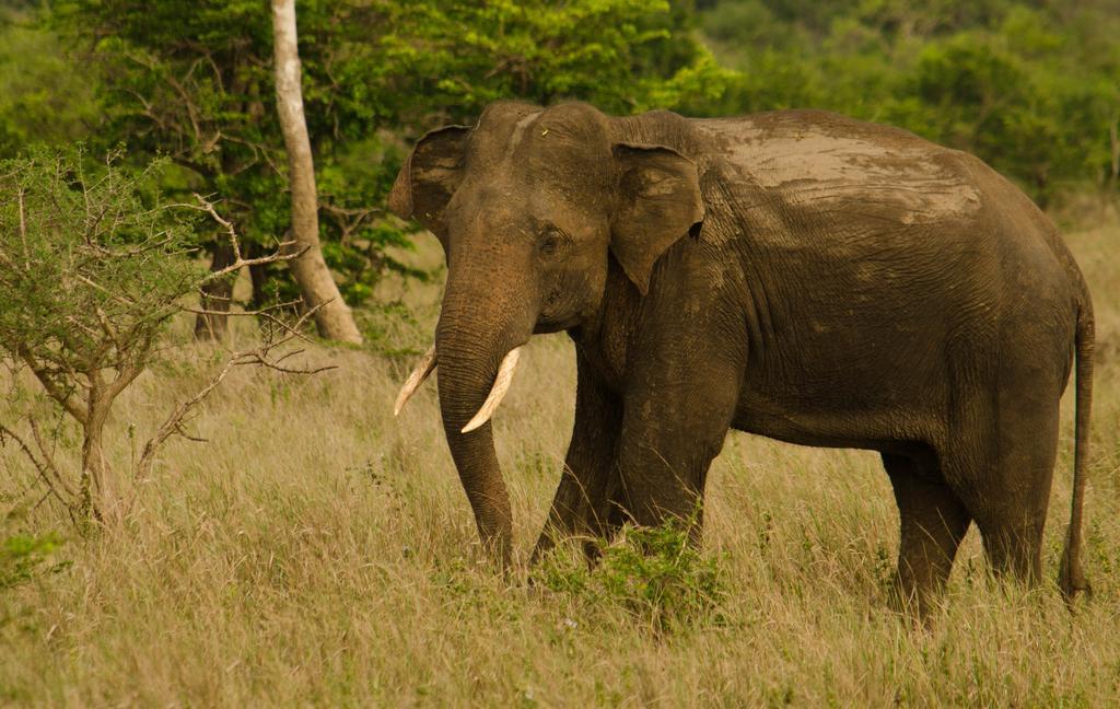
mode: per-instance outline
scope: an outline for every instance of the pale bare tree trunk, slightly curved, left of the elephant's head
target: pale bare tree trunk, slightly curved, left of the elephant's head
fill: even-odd
[[[338,292],[323,251],[319,249],[318,199],[315,192],[315,165],[304,118],[300,87],[299,50],[296,44],[296,0],[272,0],[277,111],[288,150],[288,179],[291,185],[291,231],[295,251],[302,255],[291,264],[296,282],[309,308],[318,307],[315,324],[327,339],[361,343],[362,334],[349,308]]]

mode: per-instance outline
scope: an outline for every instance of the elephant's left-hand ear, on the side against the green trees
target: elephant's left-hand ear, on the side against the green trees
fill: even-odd
[[[447,125],[430,131],[417,142],[389,193],[389,208],[393,214],[404,220],[416,217],[444,239],[444,209],[463,179],[463,157],[469,133],[466,125]]]

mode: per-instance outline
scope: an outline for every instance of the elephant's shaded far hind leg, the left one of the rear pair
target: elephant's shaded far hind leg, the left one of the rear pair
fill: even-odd
[[[883,454],[898,503],[898,593],[921,615],[942,591],[972,517],[932,461]]]

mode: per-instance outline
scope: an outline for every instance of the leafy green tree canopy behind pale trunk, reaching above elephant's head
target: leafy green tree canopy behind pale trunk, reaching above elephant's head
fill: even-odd
[[[83,122],[65,132],[95,150],[123,142],[138,160],[168,156],[179,188],[221,195],[249,241],[270,243],[290,217],[267,10],[261,0],[53,4],[38,16],[50,30],[39,48],[57,55],[50,43],[65,38],[93,80]],[[325,252],[354,305],[384,270],[403,269],[385,248],[407,234],[382,211],[403,141],[500,97],[631,113],[717,97],[730,76],[693,36],[691,8],[666,1],[306,0],[298,22]],[[40,71],[43,83],[57,73]],[[35,138],[10,132],[9,151]]]

